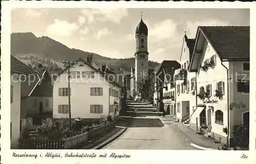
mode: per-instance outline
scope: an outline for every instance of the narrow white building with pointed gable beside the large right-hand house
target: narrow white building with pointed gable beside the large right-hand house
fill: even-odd
[[[194,45],[195,39],[188,39],[185,33],[180,56],[181,68],[176,69],[174,75],[176,81],[176,120],[181,123],[188,123],[191,113],[196,109],[196,73],[188,71]]]

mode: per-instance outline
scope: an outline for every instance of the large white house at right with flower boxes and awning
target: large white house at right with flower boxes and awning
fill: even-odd
[[[249,126],[250,27],[198,27],[188,70],[197,94],[190,127],[231,144],[232,127]]]

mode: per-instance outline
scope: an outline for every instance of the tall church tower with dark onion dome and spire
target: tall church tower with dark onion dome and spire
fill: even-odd
[[[135,82],[145,81],[148,77],[147,26],[141,20],[136,27]]]

